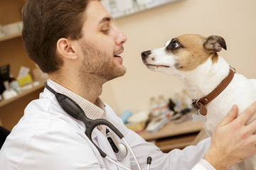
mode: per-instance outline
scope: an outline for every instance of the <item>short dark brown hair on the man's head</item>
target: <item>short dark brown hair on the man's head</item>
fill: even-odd
[[[83,11],[90,0],[29,0],[23,8],[23,46],[43,72],[57,71],[63,60],[56,55],[60,38],[82,37]]]

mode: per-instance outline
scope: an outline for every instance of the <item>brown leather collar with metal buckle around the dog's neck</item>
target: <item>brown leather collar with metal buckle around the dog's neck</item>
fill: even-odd
[[[215,97],[217,97],[227,86],[230,84],[232,81],[233,77],[235,74],[235,69],[230,66],[230,72],[228,74],[228,77],[223,79],[221,83],[212,91],[210,94],[203,98],[199,99],[192,99],[191,106],[198,111],[201,115],[206,115],[207,114],[207,108],[206,105],[210,103],[210,101],[213,101]]]

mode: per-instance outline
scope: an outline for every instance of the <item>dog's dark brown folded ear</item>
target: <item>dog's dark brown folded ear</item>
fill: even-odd
[[[210,35],[210,37],[207,38],[206,42],[203,43],[203,47],[206,50],[214,50],[215,52],[220,52],[222,48],[227,50],[224,38],[218,35]]]

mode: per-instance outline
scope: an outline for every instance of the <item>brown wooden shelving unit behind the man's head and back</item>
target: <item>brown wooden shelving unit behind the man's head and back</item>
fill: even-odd
[[[0,24],[4,26],[9,23],[21,21],[21,10],[25,1],[22,0],[4,0],[0,1]],[[14,77],[18,76],[21,66],[32,69],[36,65],[29,59],[23,50],[21,33],[14,33],[0,38],[0,66],[10,64],[10,71]],[[43,91],[43,82],[32,89],[22,91],[18,97],[7,101],[0,101],[0,120],[1,125],[11,130],[23,115],[27,104],[38,98],[39,93]]]

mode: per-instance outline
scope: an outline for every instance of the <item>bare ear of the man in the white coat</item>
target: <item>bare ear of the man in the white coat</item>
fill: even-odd
[[[68,59],[77,59],[77,53],[73,47],[73,41],[68,40],[67,38],[60,38],[57,42],[56,47],[57,52]]]

